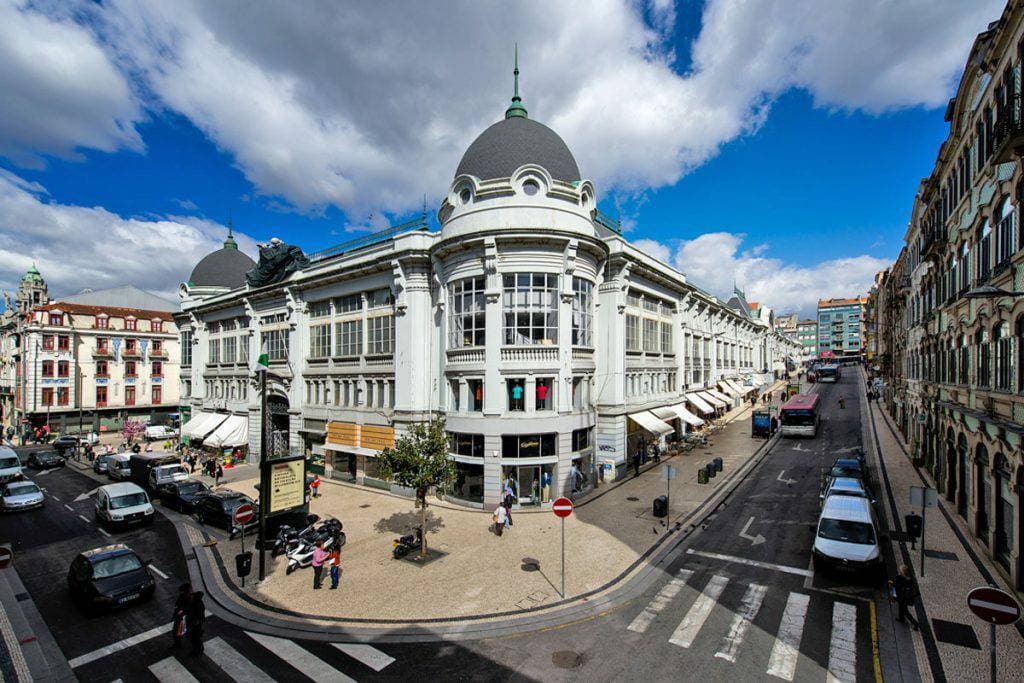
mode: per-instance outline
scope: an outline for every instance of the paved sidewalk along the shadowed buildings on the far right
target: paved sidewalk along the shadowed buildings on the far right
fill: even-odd
[[[909,505],[909,487],[934,487],[935,483],[927,472],[913,466],[906,443],[883,407],[870,403],[865,409],[865,418],[867,413],[873,423],[868,425],[873,427],[869,429],[871,445],[879,447],[885,465],[883,476],[879,477],[880,503],[890,511],[895,508],[891,528],[901,531],[904,515],[921,514],[920,508]],[[883,477],[888,481],[883,481]],[[921,631],[910,632],[918,664],[926,679],[987,680],[989,627],[968,609],[967,594],[973,588],[990,583],[1013,591],[989,560],[972,547],[970,533],[959,523],[955,509],[941,495],[939,506],[926,513],[924,575],[921,546],[911,550],[910,543],[892,543],[897,564],[911,565],[922,596],[916,610],[916,617],[922,622]],[[879,618],[888,621],[886,626],[895,636],[905,638],[903,634],[908,629],[895,621],[895,606],[881,608]],[[996,627],[996,653],[1001,663],[998,680],[1024,680],[1024,629],[1018,623],[1018,626]]]

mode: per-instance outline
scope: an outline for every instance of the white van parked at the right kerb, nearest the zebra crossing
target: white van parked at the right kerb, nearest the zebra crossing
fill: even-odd
[[[857,573],[885,568],[879,546],[879,525],[871,502],[857,496],[825,499],[814,536],[815,569],[837,568]]]

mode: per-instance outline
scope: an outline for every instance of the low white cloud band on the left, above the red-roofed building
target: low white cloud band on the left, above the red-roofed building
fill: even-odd
[[[143,220],[48,202],[38,184],[0,174],[0,289],[11,293],[35,262],[51,295],[131,284],[176,300],[178,284],[226,233],[189,216]],[[234,236],[245,252],[257,252],[249,237]]]

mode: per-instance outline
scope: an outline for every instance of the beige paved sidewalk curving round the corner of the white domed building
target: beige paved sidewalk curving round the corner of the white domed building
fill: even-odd
[[[781,383],[776,386],[782,386]],[[663,459],[678,467],[671,493],[669,530],[651,514],[651,502],[665,494],[666,482],[654,466],[641,476],[616,482],[582,502],[565,522],[566,600],[559,596],[560,522],[546,514],[513,513],[514,526],[499,538],[489,529],[489,511],[468,510],[431,502],[428,527],[431,548],[443,557],[425,566],[391,559],[391,540],[419,522],[413,502],[361,486],[325,482],[312,511],[334,515],[345,523],[348,544],[342,551],[341,590],[312,591],[312,573],[300,569],[288,575],[285,559],[272,562],[265,582],[233,578],[239,542],[203,548],[199,529],[185,529],[185,545],[196,549],[202,580],[218,590],[254,622],[309,620],[334,626],[455,624],[513,618],[535,614],[558,621],[566,606],[597,604],[621,588],[665,551],[674,547],[706,513],[710,498],[723,495],[765,451],[766,442],[750,436],[750,404],[734,409],[730,422],[712,437],[711,446]],[[707,485],[696,483],[696,471],[713,458],[724,471]],[[254,470],[250,470],[255,475]],[[255,476],[228,481],[227,486],[251,494]],[[633,500],[631,500],[633,499]],[[682,531],[676,531],[676,522]],[[530,565],[539,565],[531,570]],[[254,568],[255,569],[255,568]],[[393,587],[400,586],[400,591]],[[551,614],[546,616],[545,614]]]

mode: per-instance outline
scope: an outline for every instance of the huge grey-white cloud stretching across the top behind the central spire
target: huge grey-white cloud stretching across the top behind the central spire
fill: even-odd
[[[941,104],[1001,6],[709,0],[685,74],[667,0],[111,0],[83,1],[79,14],[150,108],[187,117],[259,191],[365,215],[414,208],[424,194],[436,202],[462,152],[502,115],[517,39],[530,115],[566,139],[600,190],[633,194],[675,183],[756,130],[790,88],[839,109]],[[63,42],[95,50],[89,36]],[[93,109],[108,90],[89,88]],[[77,143],[129,143],[135,118],[123,100],[117,116],[92,123],[98,139]],[[66,111],[62,101],[35,109],[41,121]]]

